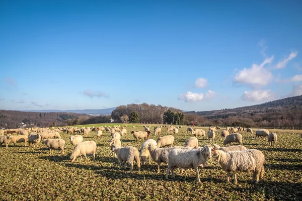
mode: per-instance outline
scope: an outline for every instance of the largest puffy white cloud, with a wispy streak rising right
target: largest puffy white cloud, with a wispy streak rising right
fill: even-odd
[[[271,63],[273,59],[274,57],[271,56],[265,59],[260,65],[253,64],[251,68],[240,70],[236,74],[234,82],[247,84],[253,88],[267,85],[273,76],[264,66]]]

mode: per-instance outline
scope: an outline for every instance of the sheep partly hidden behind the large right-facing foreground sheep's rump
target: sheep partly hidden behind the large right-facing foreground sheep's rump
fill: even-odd
[[[156,145],[149,143],[148,151],[150,152],[150,156],[152,160],[154,160],[158,164],[158,173],[160,172],[161,163],[168,163],[168,154],[173,149],[180,149],[178,147],[170,147],[170,148],[158,148]]]

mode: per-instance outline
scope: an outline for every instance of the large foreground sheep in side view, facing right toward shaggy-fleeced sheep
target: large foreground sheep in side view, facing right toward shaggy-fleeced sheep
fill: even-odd
[[[211,151],[211,145],[205,145],[201,150],[171,150],[168,154],[166,179],[168,179],[171,170],[172,178],[175,178],[174,169],[176,167],[181,169],[194,168],[196,171],[196,183],[200,183],[198,167],[205,167],[209,157],[211,157]]]

